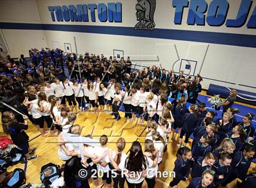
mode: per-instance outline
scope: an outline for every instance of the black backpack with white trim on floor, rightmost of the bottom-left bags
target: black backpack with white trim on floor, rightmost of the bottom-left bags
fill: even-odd
[[[51,185],[60,177],[60,166],[48,163],[41,167],[40,179],[44,186]]]

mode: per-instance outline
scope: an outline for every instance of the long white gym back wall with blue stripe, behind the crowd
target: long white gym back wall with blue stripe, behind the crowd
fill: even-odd
[[[186,3],[186,1],[180,0],[183,3]],[[190,69],[185,69],[185,73],[190,73],[191,75],[200,73],[204,77],[202,82],[204,89],[208,89],[209,84],[213,83],[255,92],[256,30],[255,26],[247,27],[250,19],[255,21],[255,0],[211,0],[206,2],[204,0],[190,0],[188,1],[188,7],[183,7],[182,13],[176,13],[177,1],[175,0],[156,1],[154,12],[155,28],[153,30],[134,29],[138,22],[135,9],[135,5],[138,3],[137,0],[31,0],[23,3],[21,1],[8,1],[10,5],[4,2],[4,6],[2,6],[3,2],[0,2],[0,12],[5,9],[4,7],[12,7],[14,8],[13,10],[20,7],[21,10],[19,11],[24,14],[24,18],[17,19],[20,13],[10,16],[10,13],[5,12],[4,17],[1,15],[4,13],[0,13],[0,22],[29,22],[32,25],[20,24],[13,27],[18,29],[35,28],[35,30],[26,30],[23,39],[19,41],[26,44],[26,49],[38,46],[40,48],[44,45],[52,47],[54,42],[61,49],[65,49],[64,43],[71,44],[72,52],[79,54],[91,52],[96,54],[104,53],[105,56],[110,56],[113,55],[114,49],[122,50],[124,58],[130,56],[132,62],[138,65],[155,64],[166,69],[173,69],[175,72],[179,72],[180,69],[185,69],[186,65],[190,65]],[[118,15],[121,12],[121,19],[119,16],[114,18],[115,15],[113,15],[113,22],[111,21],[109,10],[103,11],[105,6],[109,7],[108,4],[112,2],[121,3],[120,11],[116,13]],[[211,2],[214,3],[212,4]],[[226,4],[228,5],[226,7],[224,5],[218,8],[219,12],[224,12],[218,15],[220,16],[218,21],[222,20],[218,25],[215,23],[217,20],[215,19],[214,21],[213,17],[211,18],[213,5],[223,4],[223,2],[229,2],[229,4]],[[23,5],[21,6],[20,4]],[[70,9],[67,12],[70,17],[69,21],[65,21],[63,14],[60,15],[63,18],[59,18],[59,20],[63,21],[58,21],[55,10],[52,10],[55,21],[52,20],[49,9],[53,6],[60,5],[60,8],[63,8],[62,5],[67,7],[68,5],[74,5],[77,8],[77,4],[87,5],[87,14],[84,12],[80,18],[79,16],[77,18],[88,19],[88,21],[71,21],[70,13],[72,11],[70,12]],[[91,16],[91,9],[88,8],[89,4],[91,7],[96,4],[96,8],[94,7],[95,14],[93,14],[95,21]],[[174,7],[174,4],[176,4],[176,7]],[[190,12],[189,8],[196,5],[199,5],[199,7],[194,8],[194,10],[198,10],[202,14],[193,17],[191,16],[193,11]],[[117,4],[116,6],[118,7]],[[27,7],[30,7],[29,10],[31,12],[27,13]],[[226,13],[224,11],[225,8],[227,9]],[[248,14],[244,14],[246,10],[249,10]],[[188,12],[190,12],[190,15]],[[182,15],[180,23],[179,15]],[[238,16],[239,19],[232,21],[232,19],[236,19],[237,15],[240,15]],[[34,19],[31,19],[32,17]],[[193,19],[191,18],[195,19],[195,24],[193,24]],[[227,21],[228,19],[229,21]],[[187,22],[190,22],[190,24]],[[213,24],[218,26],[212,26]],[[5,28],[2,31],[4,31],[4,35],[12,44],[13,51],[15,51],[13,54],[11,52],[11,54],[19,55],[23,51],[15,49],[13,43],[15,40],[12,39],[18,40],[16,34],[21,33],[21,30],[10,29],[12,25],[6,23],[2,24],[2,27]],[[34,44],[37,46],[34,46]],[[115,51],[115,54],[123,56],[123,52]]]

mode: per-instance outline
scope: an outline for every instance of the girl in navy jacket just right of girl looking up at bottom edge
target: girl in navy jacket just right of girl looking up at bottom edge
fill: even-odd
[[[219,159],[213,164],[213,171],[215,171],[214,186],[218,187],[227,180],[231,167],[232,157],[229,153],[221,153]]]

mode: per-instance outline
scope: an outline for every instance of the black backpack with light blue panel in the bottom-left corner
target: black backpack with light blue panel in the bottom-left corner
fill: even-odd
[[[26,174],[23,169],[15,169],[4,188],[18,188],[26,183]]]

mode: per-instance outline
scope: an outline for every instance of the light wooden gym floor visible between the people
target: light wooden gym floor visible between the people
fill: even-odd
[[[201,93],[205,95],[204,92]],[[246,104],[243,104],[246,105]],[[246,105],[249,106],[249,105]],[[146,139],[146,126],[136,125],[130,121],[126,121],[124,119],[124,113],[120,112],[121,119],[119,121],[115,121],[113,116],[108,115],[108,113],[96,113],[93,112],[84,112],[79,113],[77,115],[76,124],[79,124],[82,127],[81,135],[91,134],[94,139],[99,139],[99,136],[105,134],[108,136],[108,144],[107,147],[115,150],[115,143],[119,137],[123,137],[126,139],[126,149],[124,152],[127,152],[133,141],[139,141],[143,146],[144,140]],[[58,146],[55,144],[57,141],[57,137],[55,136],[40,136],[37,128],[33,126],[29,122],[29,129],[26,130],[27,135],[29,135],[30,147],[37,147],[35,152],[36,155],[39,155],[37,159],[29,161],[27,163],[27,183],[41,183],[39,172],[41,170],[41,166],[47,163],[54,164],[63,164],[63,161],[59,159],[58,156]],[[0,128],[0,136],[4,136],[2,133],[2,126]],[[177,138],[177,135],[176,135]],[[176,160],[176,152],[177,146],[176,142],[172,142],[171,139],[168,143],[168,149],[165,152],[163,157],[163,162],[159,166],[160,171],[171,171],[174,169],[174,161]],[[255,167],[255,164],[252,164]],[[250,172],[252,171],[252,166]],[[12,171],[16,167],[24,169],[24,164],[16,164],[15,166],[9,167],[7,170]],[[172,178],[158,178],[157,184],[155,187],[168,187]],[[191,180],[191,178],[189,179]],[[179,187],[187,187],[189,181],[180,181]],[[235,181],[227,186],[228,188],[234,187]],[[91,187],[96,187],[92,182],[90,182]],[[127,185],[125,184],[127,187]],[[101,186],[98,186],[101,187]],[[143,187],[146,186],[146,181],[143,183]]]

